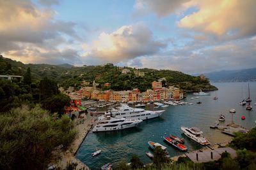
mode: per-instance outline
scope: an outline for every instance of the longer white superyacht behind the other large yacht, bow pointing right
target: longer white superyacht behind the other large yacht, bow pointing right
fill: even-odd
[[[129,120],[147,120],[150,118],[160,117],[164,110],[150,111],[141,108],[131,108],[126,104],[122,104],[118,110],[107,111],[98,120],[104,120],[106,117],[127,118]]]

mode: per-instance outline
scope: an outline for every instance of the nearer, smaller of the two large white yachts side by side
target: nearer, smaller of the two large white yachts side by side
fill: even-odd
[[[121,129],[127,129],[140,124],[142,120],[126,120],[125,118],[105,118],[104,120],[99,120],[95,127],[93,127],[93,132],[101,131],[117,131]]]

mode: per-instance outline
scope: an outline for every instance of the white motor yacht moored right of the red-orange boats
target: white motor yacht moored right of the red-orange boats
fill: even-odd
[[[197,143],[200,143],[201,145],[210,145],[211,143],[204,137],[202,136],[203,132],[200,131],[197,127],[180,127],[180,129],[184,132],[188,138],[193,139]]]

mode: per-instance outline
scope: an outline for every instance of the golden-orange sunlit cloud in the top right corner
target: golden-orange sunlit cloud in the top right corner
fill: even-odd
[[[199,0],[196,4],[198,11],[182,18],[179,27],[211,33],[220,38],[256,34],[256,1]]]

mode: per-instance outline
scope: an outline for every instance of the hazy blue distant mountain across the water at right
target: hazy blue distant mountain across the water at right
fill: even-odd
[[[239,69],[230,71],[216,71],[204,73],[210,81],[256,81],[256,67],[251,69]]]

